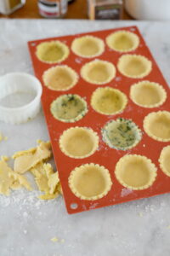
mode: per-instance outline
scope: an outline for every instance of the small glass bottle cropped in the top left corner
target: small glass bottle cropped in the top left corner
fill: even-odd
[[[20,9],[26,3],[26,0],[0,0],[0,13],[10,15],[15,10]]]

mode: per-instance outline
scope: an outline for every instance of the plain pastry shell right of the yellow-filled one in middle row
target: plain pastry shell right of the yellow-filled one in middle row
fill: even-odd
[[[159,96],[160,100],[155,102],[155,103],[150,103],[150,104],[141,104],[141,102],[138,102],[138,100],[136,99],[136,94],[138,94],[138,90],[139,90],[139,97],[140,97],[140,101],[141,101],[141,98],[143,97],[144,98],[144,101],[146,101],[146,97],[149,98],[148,96],[148,91],[145,91],[143,96],[141,95],[142,94],[142,89],[145,87],[145,89],[150,89],[150,96],[152,96],[153,98],[156,99],[155,97],[155,92],[157,93],[157,96]],[[151,95],[151,90],[153,90],[153,94]],[[154,82],[150,82],[150,81],[142,81],[142,82],[139,82],[137,84],[133,84],[131,86],[131,89],[130,89],[130,98],[131,100],[139,105],[140,107],[143,107],[143,108],[156,108],[156,107],[159,107],[161,106],[167,99],[167,93],[166,93],[166,90],[161,86],[161,84],[157,84],[157,83],[154,83]]]

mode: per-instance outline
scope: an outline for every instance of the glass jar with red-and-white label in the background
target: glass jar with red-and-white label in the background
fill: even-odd
[[[39,14],[44,18],[63,18],[67,6],[67,0],[38,0]]]

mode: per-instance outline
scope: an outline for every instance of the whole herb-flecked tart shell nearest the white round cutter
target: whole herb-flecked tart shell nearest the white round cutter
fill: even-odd
[[[87,102],[77,94],[59,96],[50,106],[55,119],[66,123],[74,123],[88,113]]]

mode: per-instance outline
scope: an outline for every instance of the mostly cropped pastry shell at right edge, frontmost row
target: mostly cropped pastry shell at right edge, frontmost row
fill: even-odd
[[[159,163],[161,171],[170,177],[170,145],[161,150]]]

